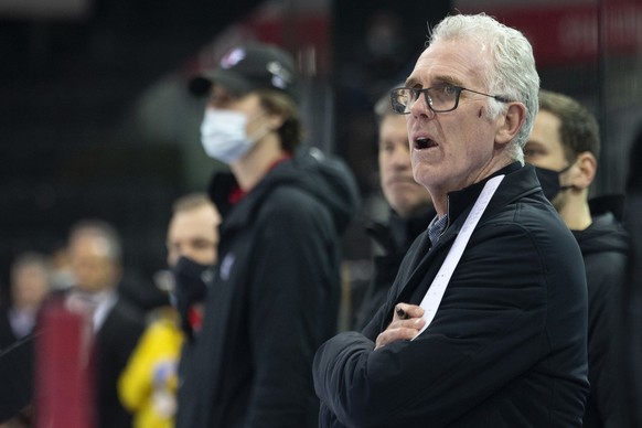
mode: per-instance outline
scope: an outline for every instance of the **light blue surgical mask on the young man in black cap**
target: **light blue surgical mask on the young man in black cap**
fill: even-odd
[[[265,137],[269,129],[247,136],[248,118],[239,111],[207,108],[201,124],[201,143],[210,158],[234,163]]]

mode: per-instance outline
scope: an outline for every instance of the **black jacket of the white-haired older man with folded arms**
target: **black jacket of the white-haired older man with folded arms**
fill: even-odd
[[[397,302],[418,304],[483,182],[449,194],[449,227],[408,250],[363,334],[314,357],[321,427],[579,427],[588,394],[587,291],[577,242],[533,170],[506,173],[430,327],[374,351]]]

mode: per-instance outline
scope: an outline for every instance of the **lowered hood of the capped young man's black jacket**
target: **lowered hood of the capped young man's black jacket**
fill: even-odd
[[[210,195],[223,217],[229,211],[228,195],[235,184],[229,173],[216,174],[210,183]],[[319,200],[332,213],[338,233],[345,232],[360,210],[361,199],[353,173],[339,158],[324,154],[317,148],[301,148],[288,161],[279,163],[235,206],[229,227],[252,221],[271,190],[280,185],[292,185]]]

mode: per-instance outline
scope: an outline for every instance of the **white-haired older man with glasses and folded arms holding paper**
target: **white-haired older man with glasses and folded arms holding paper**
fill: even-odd
[[[317,352],[321,427],[581,426],[581,254],[523,158],[538,86],[523,34],[478,14],[392,92],[437,215],[363,332]]]

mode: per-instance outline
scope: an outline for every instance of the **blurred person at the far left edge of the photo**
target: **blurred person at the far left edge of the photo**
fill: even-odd
[[[51,288],[46,256],[23,253],[10,267],[10,302],[0,304],[0,350],[32,333]]]

